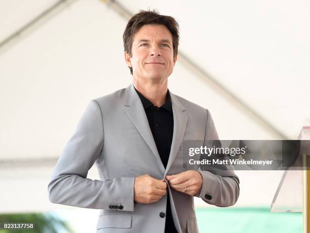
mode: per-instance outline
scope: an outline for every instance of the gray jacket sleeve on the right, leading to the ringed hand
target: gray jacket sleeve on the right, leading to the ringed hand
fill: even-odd
[[[204,146],[211,147],[209,145],[210,140],[218,139],[212,116],[207,110]],[[201,165],[197,171],[203,177],[203,185],[195,197],[199,197],[204,202],[218,207],[228,207],[236,204],[240,192],[239,177],[235,174],[231,165],[220,165],[217,168],[209,169],[209,171],[208,167]]]

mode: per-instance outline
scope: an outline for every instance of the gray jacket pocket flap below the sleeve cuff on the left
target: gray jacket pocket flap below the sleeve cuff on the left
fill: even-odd
[[[114,227],[130,228],[132,214],[103,214],[98,218],[97,229]]]

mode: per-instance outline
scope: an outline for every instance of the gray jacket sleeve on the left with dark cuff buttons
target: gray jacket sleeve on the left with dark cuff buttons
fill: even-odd
[[[73,136],[62,151],[48,184],[52,203],[91,209],[134,210],[134,177],[87,178],[104,142],[102,114],[89,102]]]

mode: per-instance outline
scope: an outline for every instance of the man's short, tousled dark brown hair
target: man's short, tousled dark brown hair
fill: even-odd
[[[172,34],[173,57],[175,57],[178,54],[179,46],[179,24],[173,17],[160,15],[157,10],[140,10],[139,13],[131,17],[123,34],[124,52],[132,57],[131,47],[135,33],[146,24],[160,24],[167,27]],[[132,67],[129,69],[132,74]]]

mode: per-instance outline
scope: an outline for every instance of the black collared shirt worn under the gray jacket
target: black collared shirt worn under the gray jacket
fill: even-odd
[[[169,91],[167,91],[166,103],[159,108],[147,100],[137,89],[136,91],[142,102],[158,153],[166,168],[173,136],[173,112]],[[165,233],[168,232],[177,233],[171,215],[169,194],[167,193]]]

